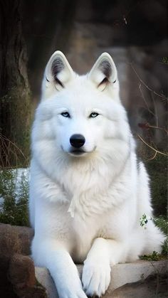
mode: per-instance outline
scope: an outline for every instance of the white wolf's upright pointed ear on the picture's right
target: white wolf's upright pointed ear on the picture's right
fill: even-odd
[[[105,90],[107,85],[115,85],[117,69],[111,56],[108,53],[100,55],[88,76],[100,91]]]

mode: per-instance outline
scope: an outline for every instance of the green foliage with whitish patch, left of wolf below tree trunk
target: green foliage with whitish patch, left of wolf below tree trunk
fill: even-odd
[[[28,226],[28,171],[4,169],[0,175],[0,222]]]

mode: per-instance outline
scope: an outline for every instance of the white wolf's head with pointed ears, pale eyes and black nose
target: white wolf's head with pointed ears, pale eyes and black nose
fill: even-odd
[[[63,53],[53,53],[33,127],[33,151],[38,158],[54,162],[56,156],[82,159],[114,154],[122,160],[129,134],[126,119],[117,70],[108,53],[100,55],[83,76],[73,72]]]

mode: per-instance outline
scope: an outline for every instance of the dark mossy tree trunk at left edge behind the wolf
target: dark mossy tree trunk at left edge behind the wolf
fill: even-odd
[[[31,92],[26,71],[20,0],[0,0],[0,166],[25,165]]]

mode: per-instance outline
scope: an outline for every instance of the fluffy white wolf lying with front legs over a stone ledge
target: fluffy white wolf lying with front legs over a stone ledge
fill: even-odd
[[[51,272],[61,298],[105,293],[112,265],[160,251],[148,176],[120,102],[115,63],[98,58],[90,73],[51,56],[32,132],[30,218],[33,260]],[[84,262],[82,281],[74,262]]]

